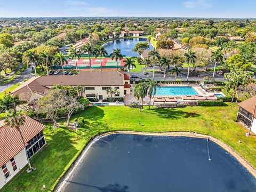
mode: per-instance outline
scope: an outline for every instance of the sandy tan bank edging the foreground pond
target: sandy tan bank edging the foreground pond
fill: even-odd
[[[190,137],[190,138],[202,138],[202,139],[210,139],[215,142],[217,145],[225,149],[231,156],[233,156],[242,166],[245,167],[249,173],[256,178],[256,169],[253,165],[251,165],[245,158],[239,155],[232,147],[224,143],[223,141],[214,138],[207,134],[201,134],[196,132],[186,132],[186,131],[173,131],[173,132],[137,132],[137,131],[111,131],[107,133],[102,133],[99,135],[95,135],[95,137],[91,138],[91,140],[87,143],[81,153],[77,156],[76,160],[70,165],[69,169],[66,173],[61,177],[57,185],[54,187],[53,191],[61,192],[65,189],[67,180],[71,177],[73,172],[76,170],[76,167],[83,161],[83,158],[88,155],[90,147],[94,142],[98,141],[102,137],[106,137],[111,134],[135,134],[135,135],[151,135],[151,136],[171,136],[171,137]]]

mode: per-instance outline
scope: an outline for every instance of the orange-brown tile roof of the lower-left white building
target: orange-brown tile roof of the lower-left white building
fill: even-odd
[[[25,116],[26,122],[20,127],[25,142],[32,139],[37,133],[44,129],[44,125],[34,119]],[[11,126],[6,126],[3,121],[0,125],[0,167],[18,154],[23,148],[19,132]]]

